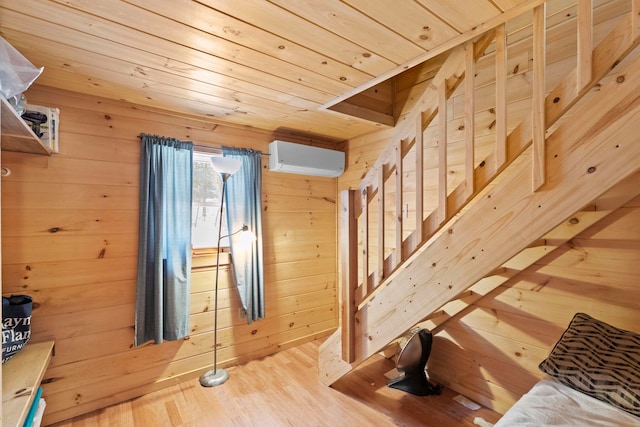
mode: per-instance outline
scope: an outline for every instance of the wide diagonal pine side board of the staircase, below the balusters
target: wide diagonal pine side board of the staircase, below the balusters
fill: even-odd
[[[356,314],[356,358],[340,331],[321,347],[332,384],[397,336],[640,170],[640,59],[605,79],[547,139],[546,183],[532,192],[530,148],[447,231],[421,247]],[[588,118],[588,123],[584,122]],[[526,160],[529,159],[527,162]]]

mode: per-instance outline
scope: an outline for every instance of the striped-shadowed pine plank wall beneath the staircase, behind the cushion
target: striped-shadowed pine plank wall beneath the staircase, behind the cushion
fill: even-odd
[[[640,332],[639,224],[636,198],[447,322],[429,375],[503,413],[575,313]]]

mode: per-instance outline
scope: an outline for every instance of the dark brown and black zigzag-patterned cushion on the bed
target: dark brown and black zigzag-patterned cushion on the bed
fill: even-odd
[[[640,334],[577,313],[539,366],[582,393],[640,417]]]

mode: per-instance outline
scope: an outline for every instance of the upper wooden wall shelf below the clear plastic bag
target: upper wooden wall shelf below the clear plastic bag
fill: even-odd
[[[2,111],[2,149],[21,153],[51,155],[47,147],[40,141],[31,128],[22,120],[9,102],[0,96]]]

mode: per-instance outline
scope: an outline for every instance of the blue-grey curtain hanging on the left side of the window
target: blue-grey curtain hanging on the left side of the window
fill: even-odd
[[[140,135],[135,345],[189,333],[193,144]]]

